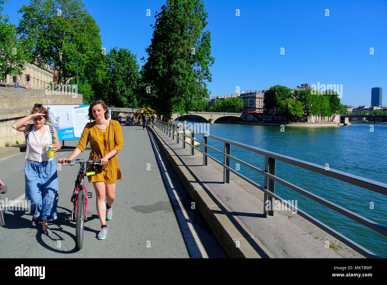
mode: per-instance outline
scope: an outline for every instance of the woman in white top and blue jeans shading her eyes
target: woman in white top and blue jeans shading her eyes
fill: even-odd
[[[27,124],[29,120],[33,124]],[[50,235],[52,231],[48,222],[57,219],[58,207],[58,173],[55,158],[49,156],[50,145],[55,147],[55,154],[61,146],[59,144],[58,132],[48,117],[48,109],[42,104],[35,104],[31,114],[17,120],[12,128],[24,132],[26,137],[26,164],[24,168],[26,200],[33,215],[31,225],[36,227],[39,216],[42,216],[42,231]],[[55,139],[54,139],[55,137]]]

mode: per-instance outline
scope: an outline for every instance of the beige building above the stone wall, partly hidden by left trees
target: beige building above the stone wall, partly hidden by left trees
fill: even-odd
[[[27,74],[30,77],[29,82],[26,81]],[[54,70],[50,65],[45,65],[43,68],[40,68],[34,63],[25,62],[24,70],[16,77],[19,88],[26,88],[26,83],[29,83],[31,85],[30,89],[45,90],[46,85],[54,80]],[[7,78],[0,80],[0,83],[0,85],[14,87],[13,75],[7,75]]]

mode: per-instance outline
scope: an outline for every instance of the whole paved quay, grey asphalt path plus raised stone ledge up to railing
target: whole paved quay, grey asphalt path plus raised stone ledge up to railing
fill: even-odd
[[[96,238],[100,222],[95,197],[91,198],[80,251],[75,249],[74,222],[64,222],[71,212],[77,166],[58,165],[58,219],[49,224],[53,234],[45,236],[41,222],[37,229],[32,228],[31,215],[26,213],[24,153],[0,158],[0,179],[9,189],[0,195],[9,207],[5,227],[0,227],[0,257],[363,257],[294,212],[280,211],[264,218],[260,190],[231,173],[230,183],[223,184],[221,166],[211,159],[208,166],[202,166],[200,153],[191,156],[189,146],[182,149],[181,142],[176,144],[158,128],[122,126],[122,131],[124,146],[118,162],[123,180],[117,181],[107,238]],[[76,146],[77,141],[65,145]],[[87,159],[89,150],[78,158]],[[56,161],[71,152],[66,148],[58,151]],[[94,192],[91,183],[85,181],[85,186]],[[22,202],[15,205],[13,200]],[[327,240],[339,249],[327,247]]]

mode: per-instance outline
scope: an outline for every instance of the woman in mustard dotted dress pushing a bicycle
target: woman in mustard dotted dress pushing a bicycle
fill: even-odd
[[[122,179],[116,154],[122,149],[123,138],[120,123],[109,120],[108,106],[102,100],[91,103],[89,119],[95,121],[86,124],[77,148],[74,149],[68,159],[62,158],[59,159],[59,162],[66,164],[65,160],[74,160],[86,149],[87,143],[90,141],[91,152],[89,159],[92,159],[94,154],[98,154],[101,157],[101,164],[107,165],[105,170],[96,171],[96,175],[87,176],[89,182],[93,183],[97,196],[97,212],[99,221],[101,221],[101,231],[98,234],[98,239],[104,239],[108,232],[106,220],[110,220],[113,216],[111,205],[116,197],[116,180]]]

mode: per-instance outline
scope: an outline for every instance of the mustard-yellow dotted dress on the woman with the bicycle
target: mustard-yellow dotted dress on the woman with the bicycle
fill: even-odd
[[[89,159],[92,159],[94,154],[98,154],[99,157],[103,158],[113,149],[115,149],[118,154],[122,149],[123,137],[120,123],[115,120],[110,120],[109,125],[110,133],[108,146],[107,142],[109,126],[104,130],[100,130],[96,126],[96,121],[94,121],[87,123],[83,129],[82,136],[80,137],[77,148],[83,152],[86,149],[87,143],[90,141],[91,152]],[[108,166],[105,170],[98,170],[96,171],[96,175],[87,176],[89,182],[103,181],[106,184],[114,184],[116,183],[117,179],[122,179],[122,173],[120,166],[118,165],[117,154],[109,159]]]

